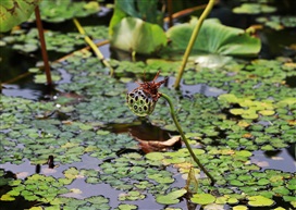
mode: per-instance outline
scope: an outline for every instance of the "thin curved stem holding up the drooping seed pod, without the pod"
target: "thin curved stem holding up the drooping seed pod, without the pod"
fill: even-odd
[[[181,128],[181,125],[178,124],[177,120],[176,120],[176,114],[175,114],[175,111],[174,111],[174,107],[173,107],[173,103],[172,103],[172,100],[170,99],[170,97],[165,94],[161,94],[161,96],[168,101],[168,103],[170,104],[170,111],[171,111],[171,115],[172,115],[172,119],[175,123],[175,126],[177,128],[177,131],[180,132],[180,135],[183,139],[183,141],[185,143],[192,158],[194,159],[194,161],[198,164],[198,166],[207,174],[207,176],[211,180],[211,183],[213,184],[214,183],[214,178],[211,176],[211,174],[206,170],[206,168],[199,162],[198,158],[195,156],[187,138],[185,137],[182,128]]]

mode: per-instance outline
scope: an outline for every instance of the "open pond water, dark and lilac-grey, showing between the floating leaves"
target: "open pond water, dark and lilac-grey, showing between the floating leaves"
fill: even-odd
[[[110,11],[103,10],[99,17],[106,16],[107,18],[110,18]],[[106,20],[100,20],[100,24],[107,25],[108,22]],[[95,20],[92,17],[90,18],[82,18],[83,24],[92,24]],[[97,24],[97,22],[95,22]],[[54,24],[53,24],[54,25]],[[51,24],[47,25],[50,29],[60,29],[61,25],[53,26]],[[67,30],[71,30],[71,28],[65,28]],[[281,36],[279,36],[281,35]],[[291,44],[295,40],[295,32],[284,32],[284,33],[275,33],[275,32],[263,32],[261,36],[264,38],[263,42],[263,50],[260,53],[260,58],[274,58],[276,54],[283,53],[283,48],[279,47],[280,45],[271,45],[271,42],[281,42],[283,40],[283,37],[285,37],[285,45]],[[281,42],[282,44],[282,42]],[[272,46],[272,47],[270,47]],[[276,46],[276,47],[274,47]],[[3,50],[3,51],[2,51]],[[104,58],[109,59],[112,58],[112,54],[116,54],[112,52],[109,49],[109,45],[104,45],[100,47],[100,50],[103,52]],[[34,83],[34,75],[29,74],[27,70],[32,66],[35,66],[36,61],[40,59],[39,54],[21,54],[16,52],[15,50],[10,49],[10,47],[2,47],[1,51],[4,52],[2,55],[1,61],[1,70],[0,70],[0,79],[3,84],[2,87],[2,95],[10,96],[10,97],[20,97],[25,99],[30,99],[34,101],[45,100],[45,101],[52,101],[53,98],[58,95],[58,91],[49,88],[46,85],[42,84],[36,84]],[[50,53],[51,58],[58,59],[61,57],[61,54],[57,53]],[[9,70],[9,71],[8,71]],[[58,82],[57,85],[61,84],[67,84],[73,82],[73,75],[69,73],[64,69],[58,70],[61,75],[61,81]],[[158,79],[161,81],[164,77],[160,76]],[[166,87],[171,88],[174,84],[175,78],[173,76],[169,77],[169,82],[166,84]],[[285,83],[288,87],[294,88],[296,87],[296,77],[287,76],[285,78]],[[135,82],[126,83],[126,91],[130,91],[134,88],[136,88],[138,85]],[[195,84],[195,85],[186,85],[184,81],[181,83],[180,88],[181,96],[184,98],[192,99],[194,95],[202,95],[207,98],[213,98],[214,100],[218,100],[218,97],[224,94],[227,94],[226,90],[217,88],[214,86],[208,85],[208,84]],[[103,126],[103,132],[110,132],[112,134],[128,134],[135,139],[140,140],[158,140],[158,141],[164,141],[168,140],[172,135],[176,135],[177,132],[172,132],[170,129],[161,128],[160,126],[153,125],[148,121],[141,121],[141,120],[134,120],[131,124],[124,124],[124,123],[110,123]],[[5,133],[5,131],[1,131],[2,133]],[[221,137],[221,136],[220,136]],[[219,139],[220,139],[219,137]],[[214,139],[214,137],[212,137]],[[207,146],[215,146],[212,145],[206,145],[206,144],[199,144],[197,145],[198,148],[206,148]],[[22,147],[22,145],[18,145],[18,147]],[[174,151],[180,149],[180,145],[176,147],[170,147],[169,151]],[[289,172],[289,173],[296,173],[296,151],[295,151],[296,145],[291,144],[288,147],[278,150],[271,150],[271,151],[263,151],[263,150],[255,150],[251,153],[250,157],[250,163],[255,163],[256,165],[260,166],[260,172],[263,172],[264,170],[272,169],[272,170],[280,170],[282,172]],[[138,147],[127,150],[119,150],[118,157],[120,158],[123,153],[139,153],[140,156],[145,156],[145,152]],[[53,155],[54,156],[54,155]],[[115,159],[115,158],[114,158]],[[106,162],[110,162],[113,159],[98,159],[95,157],[91,157],[88,153],[82,155],[81,161],[76,161],[70,164],[66,163],[60,163],[54,162],[55,166],[53,169],[50,169],[48,164],[42,163],[39,164],[39,169],[36,169],[36,164],[32,164],[28,159],[24,159],[24,162],[21,164],[13,164],[10,162],[0,164],[0,169],[3,169],[7,174],[10,176],[16,176],[21,180],[26,180],[28,176],[32,176],[36,173],[45,174],[45,175],[52,175],[55,178],[64,177],[64,171],[66,171],[70,168],[75,168],[77,170],[95,170],[95,171],[102,171],[101,165]],[[182,188],[186,185],[186,181],[182,177],[182,174],[178,173],[178,170],[172,165],[166,166],[166,170],[172,173],[172,176],[174,178],[174,183],[170,186],[171,188]],[[9,173],[11,172],[11,173]],[[205,174],[202,174],[205,176]],[[226,176],[226,175],[225,175]],[[69,189],[79,189],[79,193],[66,193],[62,195],[63,197],[73,197],[77,199],[85,199],[91,196],[97,195],[103,195],[104,197],[109,198],[109,205],[112,209],[116,208],[119,205],[122,203],[120,201],[119,195],[125,194],[126,190],[120,190],[111,186],[110,184],[106,183],[98,183],[98,184],[89,184],[86,183],[85,177],[77,177],[75,178],[70,185],[66,185],[66,188]],[[128,178],[127,178],[128,180]],[[5,186],[8,187],[8,186]],[[0,188],[0,193],[1,193]],[[0,194],[1,195],[1,194]],[[293,196],[293,195],[292,195]],[[0,196],[1,197],[1,196]],[[276,205],[272,208],[276,207],[284,207],[284,208],[291,208],[292,206],[289,202],[283,201],[282,198],[274,198],[276,201]],[[156,202],[155,194],[147,193],[146,198],[143,200],[136,200],[136,201],[126,201],[125,203],[136,205],[138,209],[163,209],[166,206],[159,205]],[[239,202],[240,203],[240,202]],[[244,201],[242,202],[243,205]],[[2,206],[1,206],[2,205]],[[4,203],[0,201],[0,210],[3,208],[3,210],[10,209],[11,207],[15,210],[21,210],[24,207],[29,208],[33,207],[34,201],[27,201],[24,200],[23,197],[18,197],[13,202]],[[181,201],[176,205],[170,205],[171,208],[183,208],[183,209],[202,209],[200,206],[193,205],[190,201],[182,198]],[[232,209],[232,205],[224,205],[223,209]],[[249,209],[259,209],[259,208],[251,208]],[[262,208],[260,208],[262,209]]]

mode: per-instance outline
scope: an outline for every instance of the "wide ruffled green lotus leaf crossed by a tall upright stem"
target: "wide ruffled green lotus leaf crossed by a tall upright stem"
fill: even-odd
[[[174,50],[185,50],[197,24],[197,18],[190,23],[180,24],[166,32]],[[260,51],[260,40],[251,37],[245,30],[222,25],[218,20],[206,20],[200,28],[194,50],[223,55],[255,55]]]

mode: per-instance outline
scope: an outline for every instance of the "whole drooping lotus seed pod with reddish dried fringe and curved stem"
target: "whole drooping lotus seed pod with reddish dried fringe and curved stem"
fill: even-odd
[[[168,77],[165,77],[163,81],[156,83],[159,73],[160,72],[157,73],[157,75],[151,82],[138,83],[139,87],[135,88],[134,90],[127,94],[126,96],[127,106],[136,115],[146,116],[153,112],[158,99],[160,97],[163,97],[170,106],[171,116],[192,158],[197,163],[197,165],[206,173],[206,175],[211,180],[211,184],[214,184],[214,178],[195,156],[187,138],[185,137],[184,132],[176,119],[176,114],[171,98],[168,95],[158,91],[158,88],[168,81]]]

